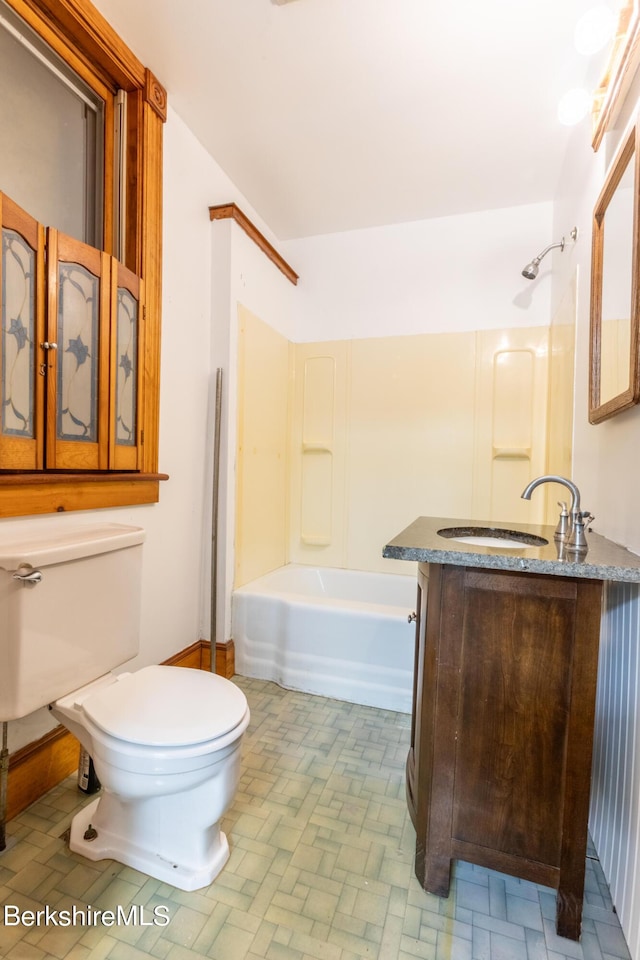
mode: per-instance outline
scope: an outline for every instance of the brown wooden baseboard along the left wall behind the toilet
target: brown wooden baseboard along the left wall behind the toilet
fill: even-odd
[[[209,670],[211,644],[197,640],[164,661],[168,666]],[[235,673],[233,640],[216,644],[216,673],[227,680]],[[78,767],[80,744],[63,726],[16,750],[9,758],[7,820],[13,819]]]

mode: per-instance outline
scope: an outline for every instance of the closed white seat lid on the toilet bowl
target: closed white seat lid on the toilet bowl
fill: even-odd
[[[125,743],[213,741],[238,727],[248,710],[238,687],[203,670],[149,666],[113,679],[76,702],[96,727]]]

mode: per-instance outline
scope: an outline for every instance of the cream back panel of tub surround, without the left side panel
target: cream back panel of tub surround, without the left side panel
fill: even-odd
[[[544,498],[519,490],[546,469],[548,340],[534,327],[296,345],[290,559],[400,572],[381,543],[416,516],[542,522]]]

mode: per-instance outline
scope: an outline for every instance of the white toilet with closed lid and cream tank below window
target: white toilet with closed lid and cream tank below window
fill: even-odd
[[[48,705],[93,758],[102,792],[74,817],[71,850],[196,890],[229,856],[220,820],[249,707],[206,671],[112,672],[138,652],[143,541],[95,524],[0,544],[0,721]]]

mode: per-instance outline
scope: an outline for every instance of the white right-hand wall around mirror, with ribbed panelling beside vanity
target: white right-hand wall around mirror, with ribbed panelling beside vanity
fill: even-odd
[[[637,84],[636,84],[637,87]],[[637,89],[617,129],[599,152],[590,146],[588,126],[577,128],[567,155],[555,208],[554,230],[577,224],[578,266],[573,479],[582,503],[595,514],[593,528],[640,552],[640,516],[636,505],[640,470],[640,407],[599,424],[588,422],[589,299],[592,212],[628,118],[635,112]],[[566,283],[566,263],[554,272],[552,309]],[[590,829],[611,888],[629,951],[640,957],[640,591],[635,584],[613,584],[605,591],[600,643]]]

